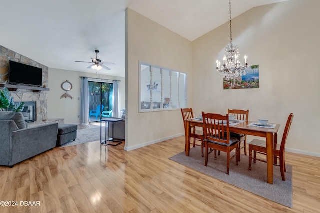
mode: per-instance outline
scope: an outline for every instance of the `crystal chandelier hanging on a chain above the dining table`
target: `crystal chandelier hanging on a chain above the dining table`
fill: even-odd
[[[223,65],[219,60],[216,60],[216,70],[220,77],[226,79],[234,79],[245,75],[248,63],[246,61],[246,55],[244,56],[244,64],[239,60],[239,48],[237,45],[232,44],[232,25],[231,25],[231,0],[229,0],[229,11],[230,11],[230,45],[224,48]]]

